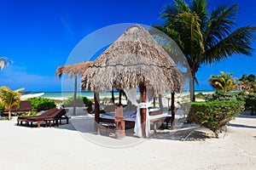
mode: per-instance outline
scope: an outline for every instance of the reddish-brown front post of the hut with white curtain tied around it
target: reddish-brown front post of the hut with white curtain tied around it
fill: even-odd
[[[141,101],[142,103],[146,103],[146,87],[143,84],[140,84],[139,88],[140,88],[140,93],[142,97]],[[146,108],[140,109],[143,138],[146,137],[146,112],[147,112]]]

